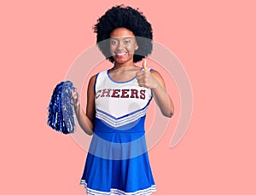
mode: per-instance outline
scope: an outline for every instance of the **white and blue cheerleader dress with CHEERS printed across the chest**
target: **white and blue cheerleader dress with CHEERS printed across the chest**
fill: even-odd
[[[148,161],[144,122],[151,89],[136,77],[116,82],[96,75],[94,135],[80,184],[89,195],[149,195],[156,191]]]

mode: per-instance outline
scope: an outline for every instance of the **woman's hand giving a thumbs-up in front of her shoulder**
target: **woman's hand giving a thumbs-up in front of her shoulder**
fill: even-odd
[[[158,81],[151,74],[147,67],[147,60],[143,59],[143,71],[138,71],[136,73],[137,83],[140,87],[148,88],[148,89],[155,89],[158,87]]]

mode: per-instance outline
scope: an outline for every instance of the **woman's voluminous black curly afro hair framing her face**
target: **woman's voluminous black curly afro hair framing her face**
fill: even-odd
[[[133,62],[143,60],[145,56],[152,52],[152,27],[146,17],[138,9],[124,5],[118,5],[102,15],[94,26],[96,32],[96,43],[106,59],[113,62],[110,54],[109,38],[110,33],[119,27],[129,29],[136,36],[138,49],[133,56]]]

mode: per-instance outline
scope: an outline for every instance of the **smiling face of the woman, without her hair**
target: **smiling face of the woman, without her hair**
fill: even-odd
[[[136,38],[127,28],[116,28],[110,33],[110,53],[116,63],[133,63],[133,54],[136,49],[138,49]]]

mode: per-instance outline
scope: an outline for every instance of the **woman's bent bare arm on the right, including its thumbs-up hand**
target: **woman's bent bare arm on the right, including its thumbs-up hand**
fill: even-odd
[[[154,100],[160,107],[162,114],[171,118],[174,113],[174,106],[171,97],[166,92],[166,84],[160,73],[149,71],[146,66],[146,60],[143,61],[143,71],[137,72],[137,82],[139,86],[152,89]]]

